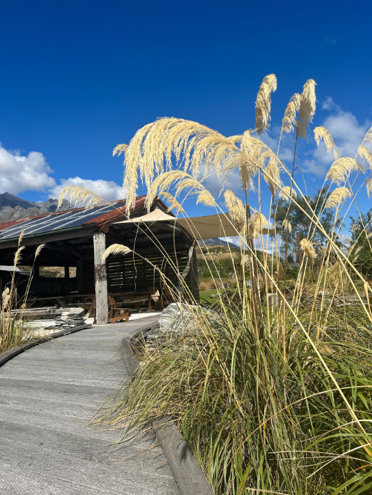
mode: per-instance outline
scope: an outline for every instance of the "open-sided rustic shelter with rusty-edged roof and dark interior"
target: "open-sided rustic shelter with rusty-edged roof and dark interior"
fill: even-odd
[[[167,207],[156,199],[151,210]],[[145,215],[144,197],[137,197],[131,217]],[[125,201],[111,202],[93,208],[78,208],[67,212],[40,215],[0,225],[0,265],[12,265],[18,239],[24,230],[21,245],[21,265],[34,266],[30,285],[32,298],[48,298],[51,295],[63,296],[74,293],[94,294],[96,289],[95,267],[100,260],[95,259],[94,236],[100,232],[104,236],[105,247],[114,243],[124,244],[134,252],[126,256],[109,256],[106,261],[108,293],[147,293],[149,286],[161,289],[164,280],[178,287],[178,276],[189,267],[190,247],[194,238],[181,226],[172,222],[148,224],[118,224],[126,219]],[[40,244],[45,244],[35,260],[35,252]],[[146,258],[146,259],[145,259]],[[194,264],[196,256],[193,256]],[[39,267],[65,267],[65,278],[40,276]],[[76,276],[69,278],[69,267],[76,267]],[[155,267],[159,268],[156,269]],[[192,273],[191,273],[192,272]],[[194,274],[194,276],[193,276]],[[186,284],[194,291],[198,289],[193,278],[196,266],[187,272]],[[17,292],[21,298],[25,293],[29,276],[15,274]],[[12,273],[0,271],[1,292],[10,282]],[[34,306],[42,306],[40,300]]]

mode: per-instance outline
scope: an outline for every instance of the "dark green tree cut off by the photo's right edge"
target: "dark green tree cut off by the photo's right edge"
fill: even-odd
[[[369,234],[372,234],[372,208],[365,214],[361,213],[360,217],[350,217],[350,219],[353,226],[351,261],[362,275],[372,278],[372,237],[368,238]],[[358,252],[356,252],[357,250]]]

